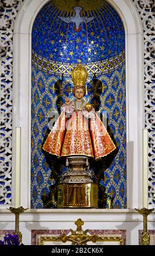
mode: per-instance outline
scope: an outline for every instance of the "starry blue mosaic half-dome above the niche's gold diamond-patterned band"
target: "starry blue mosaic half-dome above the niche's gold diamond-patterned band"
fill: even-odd
[[[70,2],[73,10],[73,4]],[[87,2],[83,5],[82,16],[92,16]],[[47,58],[42,68],[49,68],[48,59],[56,62],[82,63],[96,62],[119,54],[125,48],[125,33],[122,21],[114,8],[106,1],[94,8],[94,20],[80,25],[80,31],[75,31],[75,24],[67,24],[59,17],[64,7],[60,3],[53,6],[47,3],[37,15],[32,34],[32,44],[35,52]],[[46,9],[48,8],[48,12]],[[74,11],[73,11],[74,13]],[[75,15],[75,13],[74,13]],[[63,10],[63,16],[69,16]],[[52,20],[51,20],[52,17]],[[113,19],[111,19],[113,17]],[[95,69],[95,66],[93,67]],[[63,67],[62,67],[63,70]]]

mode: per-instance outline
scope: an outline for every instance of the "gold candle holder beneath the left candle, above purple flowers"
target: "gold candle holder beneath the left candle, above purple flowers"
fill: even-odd
[[[18,237],[20,238],[20,244],[22,243],[22,233],[19,230],[19,226],[20,226],[20,214],[23,214],[23,212],[27,209],[24,209],[23,206],[18,207],[18,208],[13,208],[10,207],[8,210],[10,210],[12,212],[12,214],[15,214],[15,232],[14,235],[18,235]]]

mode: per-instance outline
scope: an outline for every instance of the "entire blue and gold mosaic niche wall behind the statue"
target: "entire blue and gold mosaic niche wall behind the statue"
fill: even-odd
[[[92,1],[93,2],[93,1]],[[49,113],[57,111],[67,95],[72,94],[70,72],[81,62],[88,70],[85,100],[101,113],[103,122],[117,150],[96,163],[96,181],[114,197],[114,208],[126,208],[126,90],[125,33],[122,21],[106,1],[96,1],[83,8],[81,16],[95,16],[75,24],[59,16],[74,16],[75,1],[50,1],[38,13],[32,32],[31,89],[31,208],[43,208],[42,194],[54,188],[59,166],[49,167],[42,145],[48,131]],[[104,63],[104,65],[103,65]],[[96,77],[95,77],[96,75]],[[107,117],[107,118],[106,118]],[[101,167],[102,166],[102,167]],[[61,165],[61,171],[66,168]],[[54,207],[54,205],[53,205]]]

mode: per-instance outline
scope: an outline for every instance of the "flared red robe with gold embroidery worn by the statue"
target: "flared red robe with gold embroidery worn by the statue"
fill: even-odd
[[[87,118],[91,112],[86,112],[85,105],[78,111],[72,103],[70,117],[65,109],[62,111],[43,145],[44,150],[59,157],[85,155],[96,160],[115,149],[104,124],[94,114],[94,109],[91,111],[92,117]]]

